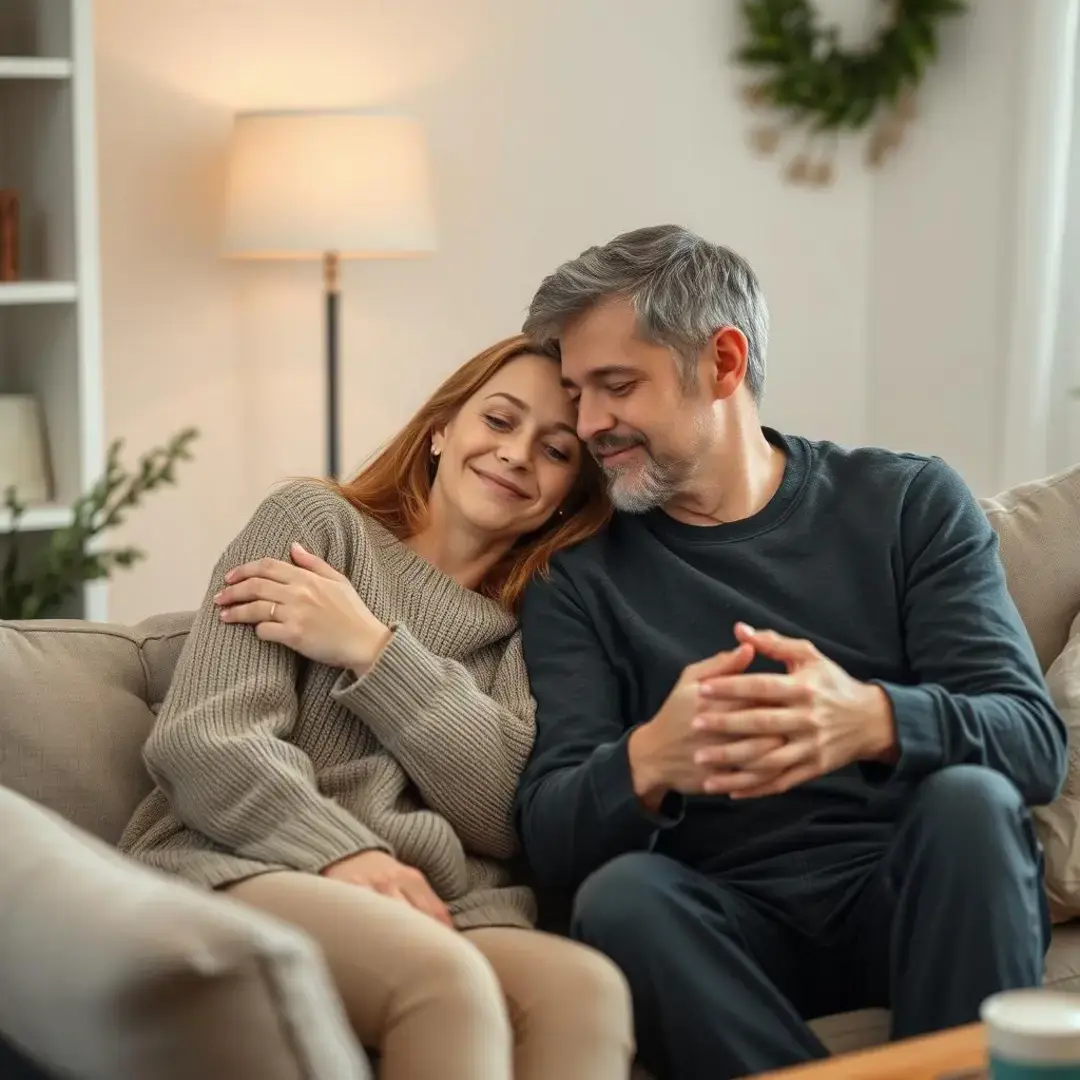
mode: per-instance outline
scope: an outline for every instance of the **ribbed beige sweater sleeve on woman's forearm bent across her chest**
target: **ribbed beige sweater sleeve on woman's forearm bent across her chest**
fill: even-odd
[[[370,728],[469,851],[509,859],[518,847],[514,793],[535,731],[519,635],[487,693],[462,664],[435,656],[405,626],[392,631],[362,677],[342,673],[335,698]]]

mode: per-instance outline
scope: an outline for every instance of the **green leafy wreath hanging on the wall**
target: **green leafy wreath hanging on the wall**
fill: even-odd
[[[804,140],[784,175],[794,184],[831,184],[843,131],[870,127],[866,161],[880,165],[915,118],[915,91],[937,55],[937,28],[967,10],[964,0],[878,0],[883,25],[863,49],[846,50],[836,26],[823,26],[810,0],[743,0],[748,40],[735,59],[761,78],[746,103],[783,113],[754,129],[751,141],[774,153],[788,130]]]

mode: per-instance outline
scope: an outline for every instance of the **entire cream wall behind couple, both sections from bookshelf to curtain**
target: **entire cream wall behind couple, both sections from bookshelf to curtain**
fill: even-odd
[[[1047,0],[1050,2],[1050,0]],[[865,0],[821,0],[865,32]],[[972,0],[879,172],[824,190],[746,149],[727,0],[97,0],[106,403],[130,453],[202,437],[124,540],[132,620],[198,603],[273,481],[320,469],[315,265],[216,255],[231,116],[384,106],[429,131],[442,240],[343,271],[345,460],[512,333],[582,247],[676,220],[746,255],[772,308],[766,420],[1001,473],[1028,9]]]

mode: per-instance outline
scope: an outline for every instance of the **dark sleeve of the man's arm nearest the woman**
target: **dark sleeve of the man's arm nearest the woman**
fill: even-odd
[[[536,745],[517,795],[522,840],[541,886],[576,888],[617,855],[648,850],[679,820],[681,802],[673,796],[674,806],[653,813],[638,794],[657,793],[635,792],[615,673],[557,567],[529,588],[522,631],[537,702]]]

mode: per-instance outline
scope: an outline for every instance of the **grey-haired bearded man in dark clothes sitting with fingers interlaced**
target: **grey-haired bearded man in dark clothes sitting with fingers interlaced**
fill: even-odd
[[[1038,985],[1026,807],[1065,728],[958,475],[762,428],[761,289],[685,229],[559,267],[525,330],[618,512],[526,597],[521,825],[645,1064],[752,1075],[823,1056],[818,1015],[888,1005],[904,1037]]]

